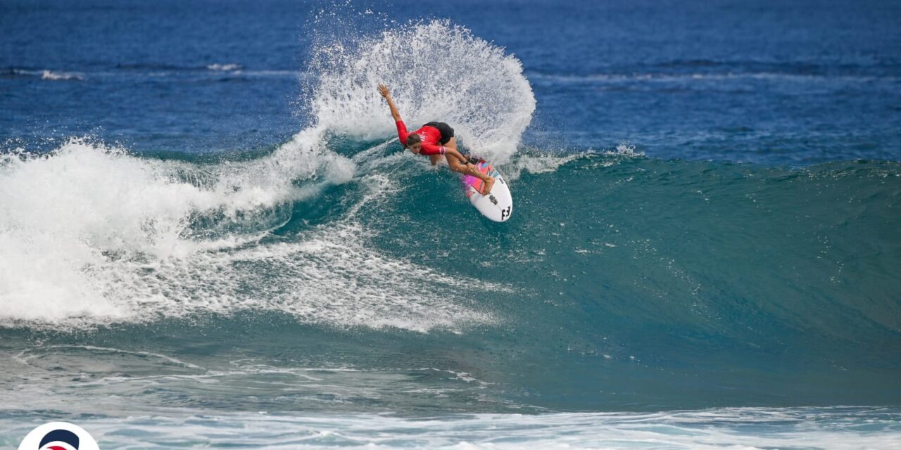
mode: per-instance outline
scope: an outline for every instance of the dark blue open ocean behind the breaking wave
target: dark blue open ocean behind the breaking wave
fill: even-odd
[[[275,145],[311,120],[293,102],[317,32],[446,18],[523,61],[540,105],[526,140],[542,147],[624,139],[651,157],[792,165],[901,157],[901,5],[890,1],[0,8],[0,132],[30,143],[89,133],[140,150]],[[335,16],[317,30],[319,10]]]

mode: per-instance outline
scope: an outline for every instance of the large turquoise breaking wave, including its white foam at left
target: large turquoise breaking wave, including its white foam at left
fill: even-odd
[[[196,383],[339,369],[377,409],[431,408],[396,391],[419,376],[458,392],[434,406],[477,411],[898,401],[897,163],[520,154],[501,166],[517,217],[497,227],[445,171],[306,136],[209,165],[84,142],[7,157],[8,356],[26,373],[60,352],[181,361],[202,333],[235,347],[148,383],[211,406]],[[230,363],[246,345],[259,361]]]

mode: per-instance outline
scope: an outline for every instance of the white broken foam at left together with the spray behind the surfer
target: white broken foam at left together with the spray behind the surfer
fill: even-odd
[[[496,67],[491,76],[451,89],[453,71],[443,72],[448,79],[404,76],[406,68],[389,57],[409,47],[439,45],[458,49],[444,59],[455,70],[483,67],[487,59]],[[422,102],[401,102],[413,121],[436,113],[426,110],[428,104],[478,102],[469,111],[445,111],[441,117],[458,127],[460,140],[490,142],[479,153],[505,162],[534,109],[522,67],[469,31],[439,22],[386,31],[360,42],[352,53],[345,51],[350,50],[319,49],[312,66],[328,75],[315,82],[310,101],[317,121],[262,157],[211,165],[163,162],[87,139],[70,139],[45,155],[6,154],[0,228],[7,251],[0,267],[8,276],[0,292],[9,302],[3,320],[56,328],[251,309],[332,324],[420,330],[488,320],[489,315],[452,305],[435,311],[444,308],[430,303],[441,297],[409,300],[422,285],[384,281],[403,271],[433,283],[460,284],[354,245],[364,232],[354,210],[392,189],[396,180],[387,176],[388,168],[402,160],[386,159],[385,145],[342,155],[328,137],[388,135],[393,123],[382,117],[383,101],[371,87],[391,79],[399,98]],[[499,90],[498,77],[506,82]],[[307,229],[308,237],[294,242],[260,242],[291,219],[292,203],[351,180],[365,193],[337,228]],[[241,278],[260,276],[248,265],[258,266],[267,284],[250,296],[238,293],[248,290]],[[341,273],[339,267],[354,269],[352,280],[332,276]],[[276,273],[278,282],[266,276]]]

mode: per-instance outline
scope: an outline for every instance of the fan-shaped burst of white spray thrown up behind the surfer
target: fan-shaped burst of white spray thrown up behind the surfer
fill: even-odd
[[[498,164],[514,155],[535,110],[519,59],[442,21],[323,44],[312,67],[318,76],[305,100],[317,123],[363,139],[395,132],[376,90],[382,83],[408,128],[446,121],[462,144]]]

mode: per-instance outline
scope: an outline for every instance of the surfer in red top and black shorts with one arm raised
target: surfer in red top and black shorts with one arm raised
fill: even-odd
[[[397,125],[397,139],[400,139],[404,148],[417,155],[425,155],[432,161],[432,166],[438,164],[441,155],[448,161],[448,166],[454,172],[460,174],[473,175],[485,182],[482,186],[482,195],[491,192],[491,186],[495,184],[495,179],[478,171],[478,168],[469,163],[469,159],[460,153],[457,149],[457,138],[453,135],[453,129],[447,123],[441,121],[430,121],[423,125],[423,128],[408,132],[404,121],[400,118],[400,112],[397,106],[391,100],[391,93],[388,91],[387,85],[378,85],[378,93],[385,97],[388,107],[391,108],[391,117]]]

